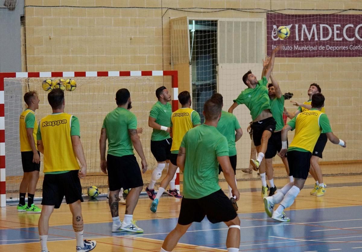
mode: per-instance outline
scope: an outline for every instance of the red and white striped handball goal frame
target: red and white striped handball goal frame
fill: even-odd
[[[80,71],[80,72],[14,72],[0,73],[0,207],[6,207],[5,186],[5,78],[51,78],[51,77],[123,77],[123,76],[171,76],[172,111],[178,109],[177,71]],[[180,171],[176,172],[176,188],[180,190]]]

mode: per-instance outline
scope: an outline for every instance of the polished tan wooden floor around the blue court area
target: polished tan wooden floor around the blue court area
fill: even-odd
[[[254,177],[255,175],[252,176]],[[287,182],[287,179],[275,179],[275,185],[278,188],[281,188]],[[313,210],[336,207],[348,208],[362,205],[362,175],[325,177],[325,183],[327,183],[328,186],[326,194],[321,197],[316,197],[310,195],[310,190],[313,187],[314,181],[313,179],[308,178],[306,186],[300,192],[294,204],[286,210]],[[259,180],[238,181],[237,185],[241,192],[240,201],[238,202],[238,213],[240,214],[239,216],[241,216],[240,218],[252,218],[245,214],[263,213],[264,205],[260,194],[261,182]],[[226,182],[220,182],[220,186],[223,190],[227,189]],[[140,222],[151,220],[150,225],[140,225],[140,227],[145,229],[145,231],[148,229],[148,233],[153,232],[159,234],[157,226],[160,224],[158,224],[158,221],[169,219],[177,221],[180,202],[181,200],[173,197],[162,197],[157,212],[152,213],[150,211],[151,200],[143,196],[135,209],[134,219]],[[110,236],[105,235],[102,230],[98,230],[97,224],[108,225],[111,222],[110,211],[108,204],[105,203],[105,198],[98,198],[95,201],[86,200],[86,202],[82,204],[82,209],[85,223],[84,237],[97,237],[92,238],[97,241],[97,247],[94,251],[159,251],[162,240],[152,238],[152,235],[127,234],[122,236]],[[36,237],[38,235],[37,223],[39,214],[18,213],[15,204],[6,208],[1,208],[0,211],[0,242],[2,242],[0,244],[12,243],[0,245],[0,251],[40,251],[40,244],[37,238],[34,238],[34,234]],[[120,205],[119,212],[122,219],[125,212],[125,206]],[[174,221],[172,224],[167,225],[170,225],[170,227],[172,225],[172,229],[175,225],[174,223],[176,222]],[[74,233],[72,232],[71,225],[72,218],[70,210],[66,204],[62,204],[60,209],[54,211],[50,219],[50,226],[56,229],[58,233],[55,234],[57,238],[48,242],[49,251],[73,251],[75,240],[73,238]],[[13,236],[14,232],[19,230],[21,230],[23,235],[20,235],[20,237]],[[51,232],[52,229],[50,229],[49,233],[51,234]],[[254,240],[257,240],[257,238],[258,237],[255,237]],[[179,243],[174,251],[225,250],[197,246],[190,242]]]

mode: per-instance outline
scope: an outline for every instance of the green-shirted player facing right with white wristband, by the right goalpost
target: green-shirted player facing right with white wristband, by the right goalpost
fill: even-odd
[[[148,117],[148,126],[153,128],[151,152],[157,161],[157,166],[151,174],[150,184],[146,187],[148,197],[152,201],[156,198],[155,183],[161,178],[166,164],[173,166],[172,169],[177,169],[177,167],[174,167],[169,161],[172,146],[172,138],[170,136],[172,108],[169,103],[169,101],[171,101],[171,94],[166,87],[162,86],[156,89],[156,97],[158,101],[152,106],[150,117]],[[176,177],[170,182],[171,191],[176,189],[175,179]]]

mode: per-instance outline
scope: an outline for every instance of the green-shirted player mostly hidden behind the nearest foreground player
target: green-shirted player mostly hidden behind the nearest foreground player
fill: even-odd
[[[224,105],[223,102],[223,96],[221,94],[215,93],[211,96],[211,100],[215,101],[216,103],[220,104],[221,106]],[[221,117],[220,121],[218,122],[218,127],[216,129],[226,137],[226,140],[228,142],[229,147],[229,159],[231,163],[231,167],[234,170],[234,174],[236,175],[236,163],[237,163],[237,156],[236,156],[236,147],[235,142],[241,138],[243,135],[243,130],[240,127],[239,121],[237,121],[236,116],[233,114],[221,111]],[[236,132],[236,134],[235,134]],[[222,172],[222,168],[219,165],[219,174]],[[235,179],[236,183],[236,179]],[[231,186],[228,185],[229,192],[228,192],[228,198],[231,200],[231,203],[233,204],[233,207],[235,208],[235,211],[238,210],[237,204],[235,202],[235,198],[232,196],[231,193]]]

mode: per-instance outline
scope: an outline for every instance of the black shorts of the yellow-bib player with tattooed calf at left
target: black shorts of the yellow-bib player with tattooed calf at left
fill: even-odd
[[[72,204],[77,200],[83,202],[82,186],[78,178],[78,171],[72,170],[60,174],[45,174],[42,205],[59,208],[64,196],[66,196],[67,204]]]

